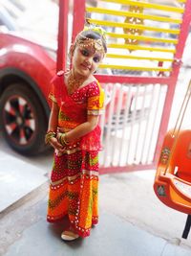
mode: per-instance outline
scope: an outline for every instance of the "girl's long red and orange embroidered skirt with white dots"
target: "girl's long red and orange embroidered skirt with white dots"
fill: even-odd
[[[61,155],[54,153],[47,221],[68,215],[80,237],[90,235],[98,222],[98,151],[81,151],[70,146]]]

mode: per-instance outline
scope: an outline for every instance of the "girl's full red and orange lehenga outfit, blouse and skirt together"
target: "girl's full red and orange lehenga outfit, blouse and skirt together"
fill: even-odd
[[[87,115],[99,115],[103,109],[104,93],[97,81],[78,88],[69,95],[63,74],[53,79],[50,94],[59,105],[58,127],[67,131],[87,121]],[[48,202],[48,221],[59,221],[68,215],[75,232],[90,235],[98,222],[98,151],[100,128],[66,146],[60,154],[54,152]]]

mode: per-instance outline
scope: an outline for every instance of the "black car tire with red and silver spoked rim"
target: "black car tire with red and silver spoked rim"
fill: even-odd
[[[3,135],[14,151],[35,155],[47,151],[44,135],[47,118],[42,105],[27,83],[13,83],[0,98]]]

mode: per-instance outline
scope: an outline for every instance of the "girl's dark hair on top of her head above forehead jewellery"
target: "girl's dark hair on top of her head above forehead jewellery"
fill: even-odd
[[[100,35],[99,33],[96,33],[95,31],[90,29],[90,30],[82,31],[81,33],[79,33],[76,36],[75,41],[77,39],[79,39],[80,41],[84,41],[86,39],[84,36],[87,37],[87,38],[91,38],[91,39],[101,39],[104,51],[105,51],[105,53],[107,53],[106,39],[103,35]]]

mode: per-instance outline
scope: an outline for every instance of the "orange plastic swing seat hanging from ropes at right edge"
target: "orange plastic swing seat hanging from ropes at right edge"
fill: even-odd
[[[191,81],[174,129],[164,137],[154,182],[154,191],[167,206],[188,215],[182,238],[191,227],[191,129],[180,130],[191,96]]]

